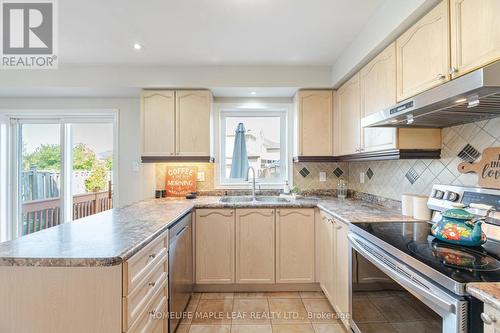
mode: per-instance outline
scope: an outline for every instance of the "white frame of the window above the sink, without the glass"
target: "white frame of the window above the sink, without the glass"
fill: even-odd
[[[279,117],[280,118],[280,159],[283,175],[277,182],[260,182],[258,189],[282,189],[285,181],[291,184],[292,165],[292,117],[290,104],[281,103],[216,103],[214,117],[215,130],[215,189],[248,189],[251,185],[245,181],[227,181],[225,178],[226,160],[226,123],[227,117]]]

